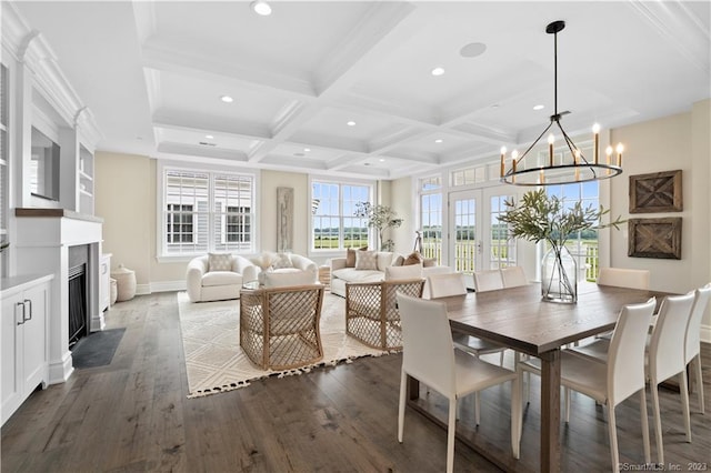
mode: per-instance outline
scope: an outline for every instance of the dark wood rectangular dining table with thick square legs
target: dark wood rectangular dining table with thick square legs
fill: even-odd
[[[519,353],[541,359],[540,471],[560,471],[560,351],[569,343],[610,331],[620,309],[641,303],[659,292],[581,283],[578,302],[543,302],[539,284],[498,291],[469,293],[439,299],[447,304],[452,330],[487,339]],[[419,383],[410,379],[410,405],[415,402]],[[432,415],[423,412],[430,419]],[[461,440],[461,439],[460,439]],[[482,447],[485,442],[464,443],[503,470],[518,470],[517,461]],[[521,459],[523,461],[523,459]],[[514,467],[512,467],[512,465]]]

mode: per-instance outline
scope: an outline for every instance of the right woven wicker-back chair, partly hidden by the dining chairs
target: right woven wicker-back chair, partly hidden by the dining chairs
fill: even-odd
[[[397,293],[422,298],[423,279],[346,284],[346,333],[380,350],[402,349]]]

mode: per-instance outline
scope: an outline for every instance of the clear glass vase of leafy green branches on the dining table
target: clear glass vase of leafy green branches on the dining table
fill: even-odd
[[[557,195],[544,189],[523,194],[520,202],[505,201],[507,211],[499,221],[509,225],[511,236],[538,243],[547,241],[550,249],[541,262],[541,292],[544,301],[574,303],[578,301],[578,271],[575,259],[565,242],[582,230],[607,227],[619,229],[620,217],[603,224],[601,219],[610,210],[594,209],[575,202],[563,204]]]

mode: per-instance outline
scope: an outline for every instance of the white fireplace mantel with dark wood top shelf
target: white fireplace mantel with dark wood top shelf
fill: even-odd
[[[69,351],[69,248],[89,245],[89,330],[103,330],[99,265],[103,220],[62,209],[16,209],[18,271],[51,273],[49,382],[62,383],[73,371]]]

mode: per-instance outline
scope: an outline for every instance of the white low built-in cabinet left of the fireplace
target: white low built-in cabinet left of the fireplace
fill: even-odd
[[[0,402],[2,424],[49,376],[48,324],[52,275],[0,281]]]

